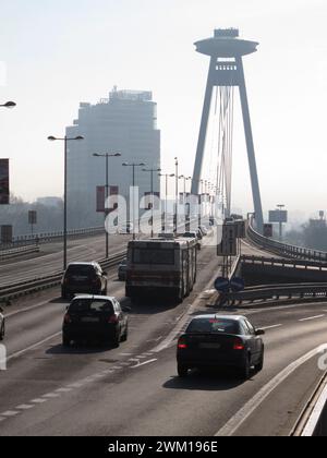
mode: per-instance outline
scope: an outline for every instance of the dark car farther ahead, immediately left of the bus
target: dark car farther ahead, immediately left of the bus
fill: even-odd
[[[61,297],[69,299],[74,294],[107,294],[107,274],[96,262],[71,263],[61,281]]]

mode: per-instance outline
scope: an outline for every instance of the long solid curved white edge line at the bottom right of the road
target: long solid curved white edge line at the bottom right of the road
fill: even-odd
[[[288,365],[283,371],[277,374],[268,382],[249,402],[246,402],[215,436],[232,436],[239,427],[249,419],[249,417],[263,403],[263,401],[296,369],[310,361],[318,354],[320,346],[299,358],[296,361]]]

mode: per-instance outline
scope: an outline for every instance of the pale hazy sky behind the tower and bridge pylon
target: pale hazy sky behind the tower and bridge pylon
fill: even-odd
[[[234,26],[261,43],[244,67],[264,208],[327,209],[326,0],[0,0],[0,100],[17,103],[0,110],[0,157],[15,194],[62,194],[62,145],[46,138],[113,85],[153,91],[162,168],[178,155],[191,174],[208,70],[193,43]],[[245,209],[238,110],[233,204]]]

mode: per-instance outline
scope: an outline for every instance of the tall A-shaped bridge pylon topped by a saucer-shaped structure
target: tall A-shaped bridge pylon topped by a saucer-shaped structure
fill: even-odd
[[[255,212],[255,222],[258,232],[263,232],[263,207],[259,192],[259,182],[255,159],[249,100],[244,77],[242,57],[256,52],[258,43],[239,38],[235,28],[216,29],[214,37],[195,43],[196,51],[210,57],[210,67],[202,112],[196,158],[193,172],[192,194],[199,192],[199,182],[204,162],[207,129],[210,116],[213,93],[215,87],[239,87],[245,141],[252,184],[252,194]],[[231,183],[229,183],[231,185]]]

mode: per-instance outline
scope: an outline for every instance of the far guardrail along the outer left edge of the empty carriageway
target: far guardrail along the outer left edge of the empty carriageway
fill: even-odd
[[[105,227],[86,228],[86,229],[73,229],[68,231],[70,239],[80,238],[84,236],[97,236],[105,233]],[[0,252],[4,250],[11,250],[19,246],[35,245],[40,243],[49,243],[63,238],[63,231],[37,233],[34,236],[20,236],[15,237],[12,243],[1,243]]]

